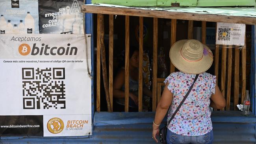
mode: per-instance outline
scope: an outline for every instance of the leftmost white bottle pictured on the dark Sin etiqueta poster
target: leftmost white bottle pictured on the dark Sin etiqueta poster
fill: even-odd
[[[72,24],[74,22],[74,16],[70,13],[70,7],[66,7],[66,13],[63,15],[63,33],[72,33]]]

